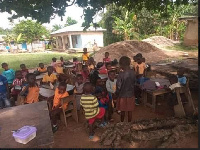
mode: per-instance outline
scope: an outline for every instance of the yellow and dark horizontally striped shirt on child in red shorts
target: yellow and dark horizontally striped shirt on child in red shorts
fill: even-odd
[[[85,118],[91,119],[99,114],[99,103],[97,98],[91,94],[81,96],[80,104],[85,111]]]

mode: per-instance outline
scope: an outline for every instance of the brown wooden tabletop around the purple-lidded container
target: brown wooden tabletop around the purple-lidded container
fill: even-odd
[[[25,125],[37,128],[36,137],[26,145],[17,143],[11,132]],[[0,127],[1,148],[37,148],[53,144],[53,133],[46,101],[0,110]]]

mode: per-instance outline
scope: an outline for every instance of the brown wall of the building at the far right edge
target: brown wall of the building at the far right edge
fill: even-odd
[[[198,46],[198,20],[188,20],[183,44],[186,46]]]

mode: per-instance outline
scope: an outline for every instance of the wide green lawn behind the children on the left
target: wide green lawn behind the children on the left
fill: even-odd
[[[65,61],[72,59],[73,57],[80,57],[81,54],[66,54],[66,53],[19,53],[19,54],[1,54],[0,63],[6,62],[9,65],[9,68],[14,70],[20,69],[20,64],[26,64],[28,69],[38,67],[40,62],[48,65],[51,63],[53,57],[60,59],[63,57]],[[0,72],[3,69],[0,66]]]

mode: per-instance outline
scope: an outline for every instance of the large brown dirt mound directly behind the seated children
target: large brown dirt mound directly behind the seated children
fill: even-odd
[[[155,46],[143,41],[116,42],[101,48],[94,56],[96,62],[102,62],[105,52],[110,53],[110,58],[119,60],[122,56],[133,59],[137,53],[142,53],[147,62],[157,62],[168,58],[168,56]]]

